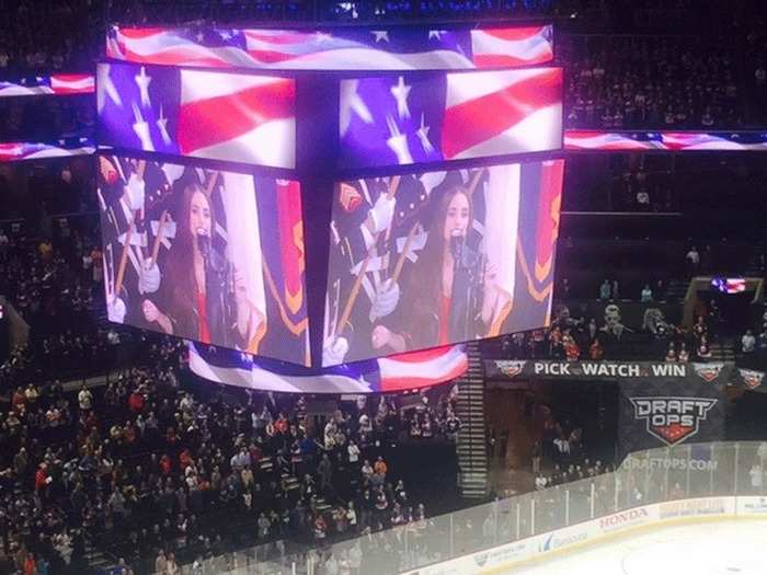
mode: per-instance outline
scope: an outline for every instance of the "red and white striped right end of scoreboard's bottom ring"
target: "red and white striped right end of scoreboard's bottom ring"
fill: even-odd
[[[451,345],[381,357],[378,367],[381,391],[391,392],[456,379],[469,368],[469,358],[462,346]]]

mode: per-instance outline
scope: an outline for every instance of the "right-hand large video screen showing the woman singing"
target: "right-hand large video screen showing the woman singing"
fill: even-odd
[[[324,366],[547,325],[563,161],[341,182]]]

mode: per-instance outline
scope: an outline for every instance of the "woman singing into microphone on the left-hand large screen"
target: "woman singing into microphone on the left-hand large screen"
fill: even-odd
[[[184,189],[176,228],[162,281],[164,309],[145,299],[145,319],[168,334],[243,348],[264,318],[248,302],[242,274],[231,273],[231,264],[213,248],[216,215],[196,184]]]

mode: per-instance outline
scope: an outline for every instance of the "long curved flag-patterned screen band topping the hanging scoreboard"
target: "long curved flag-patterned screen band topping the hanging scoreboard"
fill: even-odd
[[[551,25],[324,32],[114,26],[107,33],[106,55],[214,68],[456,70],[546,64],[553,59],[553,33]]]

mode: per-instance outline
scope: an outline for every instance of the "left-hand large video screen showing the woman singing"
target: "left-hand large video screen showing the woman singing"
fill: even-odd
[[[309,364],[298,182],[98,161],[111,321]]]

